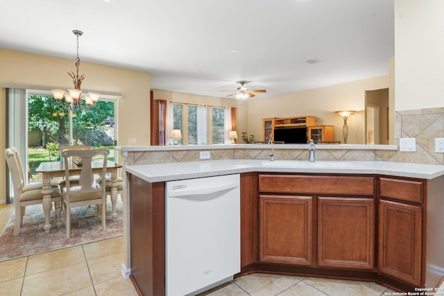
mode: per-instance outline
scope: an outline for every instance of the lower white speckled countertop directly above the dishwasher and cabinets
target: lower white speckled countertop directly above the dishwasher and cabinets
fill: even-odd
[[[297,160],[269,162],[264,160],[228,159],[171,164],[136,164],[126,166],[126,171],[147,182],[164,182],[249,172],[378,174],[434,179],[444,175],[444,166],[406,164],[403,162],[307,162]]]

